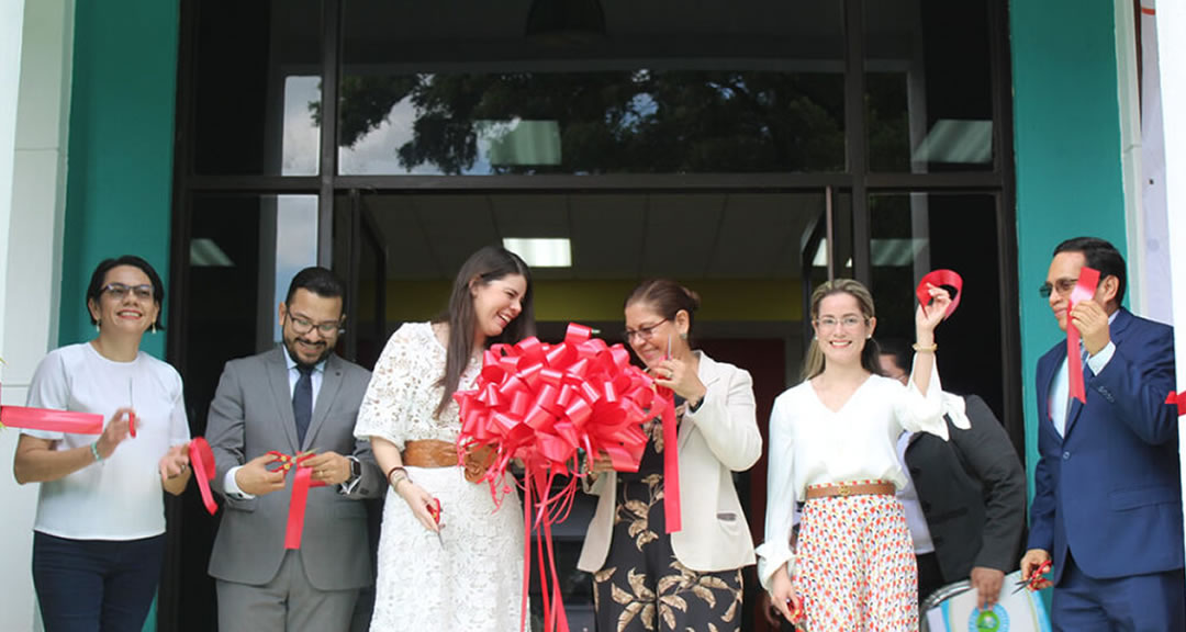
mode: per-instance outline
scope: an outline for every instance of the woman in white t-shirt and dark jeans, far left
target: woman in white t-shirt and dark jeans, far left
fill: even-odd
[[[33,586],[47,632],[139,632],[157,594],[161,490],[177,496],[190,480],[181,377],[140,351],[164,300],[147,261],[102,261],[87,287],[95,338],[51,351],[30,384],[31,407],[106,420],[97,436],[23,429],[17,443],[17,483],[42,484]]]

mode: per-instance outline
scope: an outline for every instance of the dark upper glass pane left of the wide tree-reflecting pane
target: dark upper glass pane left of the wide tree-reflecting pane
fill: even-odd
[[[198,4],[195,170],[315,175],[321,2]]]

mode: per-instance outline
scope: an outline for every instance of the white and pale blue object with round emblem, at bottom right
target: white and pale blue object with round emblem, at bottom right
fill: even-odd
[[[968,580],[939,588],[920,608],[923,632],[1051,632],[1041,595],[1016,590],[1020,581],[1020,570],[1006,575],[1000,600],[984,612],[976,608],[976,592]]]

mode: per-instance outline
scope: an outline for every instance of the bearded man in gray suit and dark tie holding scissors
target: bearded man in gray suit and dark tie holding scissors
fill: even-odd
[[[283,345],[228,362],[210,404],[211,486],[225,500],[210,556],[222,632],[347,630],[374,581],[358,500],[385,485],[353,438],[370,372],[333,353],[344,293],[325,268],[298,273],[280,304]],[[269,451],[314,452],[305,464],[326,485],[308,491],[299,549],[285,549],[295,468],[275,470]]]

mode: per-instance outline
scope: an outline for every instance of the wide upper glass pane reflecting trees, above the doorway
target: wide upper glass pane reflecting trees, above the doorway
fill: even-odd
[[[844,168],[839,2],[518,5],[345,4],[340,172]]]

